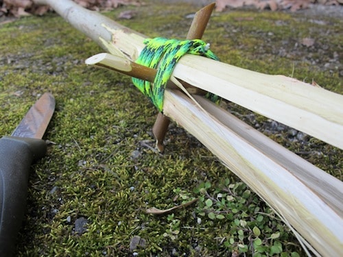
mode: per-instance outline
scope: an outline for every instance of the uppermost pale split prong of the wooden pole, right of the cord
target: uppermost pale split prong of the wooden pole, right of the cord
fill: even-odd
[[[199,58],[182,58],[174,76],[343,149],[343,95],[292,77]]]

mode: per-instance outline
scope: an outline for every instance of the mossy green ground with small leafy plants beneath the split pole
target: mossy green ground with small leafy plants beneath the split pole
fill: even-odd
[[[123,25],[151,37],[183,38],[191,23],[185,16],[196,8],[145,5],[106,15],[115,19],[123,10],[137,11]],[[342,94],[342,64],[324,68],[335,53],[343,58],[342,21],[316,19],[324,24],[285,12],[216,13],[204,40],[223,62],[314,79]],[[32,166],[16,256],[305,254],[274,212],[180,127],[171,125],[163,156],[148,147],[156,110],[129,77],[85,66],[102,49],[59,16],[22,18],[0,25],[0,34],[0,135],[11,134],[40,94],[56,97],[45,134],[52,143]],[[314,47],[299,43],[305,37],[315,39]],[[342,180],[341,150],[314,138],[305,146],[286,134],[272,138]],[[196,197],[173,215],[144,212]],[[78,230],[81,218],[87,224]],[[145,245],[130,249],[133,236]]]

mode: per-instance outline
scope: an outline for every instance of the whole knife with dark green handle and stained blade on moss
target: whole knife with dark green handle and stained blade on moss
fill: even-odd
[[[45,93],[12,135],[0,139],[0,256],[12,256],[14,252],[26,209],[29,168],[47,152],[41,138],[54,109],[54,97]]]

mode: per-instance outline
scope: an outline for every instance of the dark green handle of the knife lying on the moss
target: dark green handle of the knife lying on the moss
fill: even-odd
[[[12,256],[26,210],[29,168],[47,152],[44,140],[0,139],[0,256]]]

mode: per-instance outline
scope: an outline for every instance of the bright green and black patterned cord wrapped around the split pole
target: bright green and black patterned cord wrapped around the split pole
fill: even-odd
[[[137,63],[152,69],[158,69],[153,86],[143,79],[132,77],[134,86],[150,98],[160,112],[163,111],[163,95],[167,82],[173,73],[176,63],[186,53],[219,60],[209,49],[209,44],[200,40],[177,40],[152,38],[144,40],[145,47]],[[212,95],[211,95],[212,96]]]

